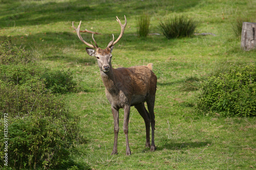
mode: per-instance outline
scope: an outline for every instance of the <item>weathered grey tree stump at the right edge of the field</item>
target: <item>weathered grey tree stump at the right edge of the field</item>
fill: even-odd
[[[243,22],[241,48],[249,51],[256,46],[256,23]]]

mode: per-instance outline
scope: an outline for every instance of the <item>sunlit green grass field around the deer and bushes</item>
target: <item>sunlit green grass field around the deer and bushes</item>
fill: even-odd
[[[238,17],[256,17],[255,0],[130,0],[130,1],[18,1],[0,0],[0,40],[25,45],[36,62],[54,70],[74,73],[81,92],[63,94],[69,114],[81,117],[80,130],[87,143],[77,144],[77,162],[93,169],[255,169],[255,117],[209,117],[195,109],[198,91],[181,91],[188,77],[202,77],[222,63],[254,63],[256,51],[240,49],[240,38],[232,32]],[[163,35],[138,38],[136,23],[144,12],[151,16],[150,33],[160,33],[159,22],[183,14],[199,22],[194,36],[167,40]],[[111,156],[114,123],[111,106],[104,94],[96,59],[87,55],[73,32],[82,20],[81,30],[95,35],[106,47],[112,33],[118,37],[121,22],[127,18],[122,39],[113,50],[113,67],[154,63],[158,78],[155,115],[156,152],[145,148],[145,127],[135,108],[131,109],[129,140],[131,156],[125,156],[120,111],[118,155]],[[91,41],[91,34],[82,33]]]

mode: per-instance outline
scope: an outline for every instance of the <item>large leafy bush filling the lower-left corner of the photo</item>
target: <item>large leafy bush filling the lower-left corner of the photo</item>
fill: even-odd
[[[45,90],[42,81],[31,79],[22,85],[0,81],[0,114],[3,113],[8,113],[9,166],[19,169],[88,168],[84,163],[76,164],[71,157],[74,143],[85,142],[78,128],[80,119],[68,117],[65,103]],[[1,132],[3,123],[1,120]],[[0,139],[1,157],[3,139]],[[0,161],[0,167],[3,164]]]

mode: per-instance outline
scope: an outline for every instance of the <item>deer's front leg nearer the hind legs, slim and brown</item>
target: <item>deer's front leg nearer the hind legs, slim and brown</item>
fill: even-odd
[[[130,116],[130,108],[131,106],[126,105],[124,109],[124,118],[123,118],[123,132],[125,135],[126,140],[126,155],[131,155],[131,150],[129,147],[129,140],[128,140],[128,123],[129,123],[129,116]]]

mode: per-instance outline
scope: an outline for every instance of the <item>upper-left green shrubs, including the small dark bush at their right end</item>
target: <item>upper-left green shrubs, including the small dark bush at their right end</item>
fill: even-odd
[[[28,64],[32,55],[25,47],[17,47],[10,41],[0,44],[0,80],[5,83],[22,85],[30,80],[38,79],[45,83],[45,87],[54,93],[67,93],[77,89],[69,71],[55,71],[36,65]],[[39,80],[41,79],[41,80]]]

